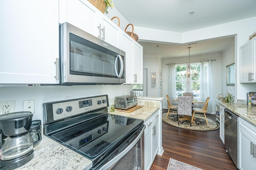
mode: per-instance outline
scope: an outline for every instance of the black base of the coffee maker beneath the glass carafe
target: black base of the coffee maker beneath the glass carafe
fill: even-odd
[[[0,167],[8,167],[8,169],[18,168],[26,163],[28,163],[34,157],[34,150],[32,149],[27,154],[20,156],[19,158],[12,160],[0,160]]]

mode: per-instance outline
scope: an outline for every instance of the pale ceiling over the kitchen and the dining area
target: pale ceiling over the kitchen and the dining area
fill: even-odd
[[[114,6],[129,23],[138,27],[186,32],[256,16],[256,0],[113,0]],[[191,11],[194,11],[191,14]],[[135,31],[134,31],[135,32]],[[234,37],[198,41],[196,44],[138,43],[144,54],[163,59],[220,53]],[[195,43],[195,42],[191,42]],[[158,46],[158,47],[157,47]]]

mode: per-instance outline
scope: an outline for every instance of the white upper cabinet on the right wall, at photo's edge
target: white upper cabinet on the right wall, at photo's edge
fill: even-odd
[[[256,37],[240,47],[240,83],[256,82]]]

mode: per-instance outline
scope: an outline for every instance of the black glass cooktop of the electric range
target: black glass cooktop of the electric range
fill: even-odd
[[[62,145],[86,156],[93,165],[120,145],[143,124],[143,120],[104,114],[50,137]]]

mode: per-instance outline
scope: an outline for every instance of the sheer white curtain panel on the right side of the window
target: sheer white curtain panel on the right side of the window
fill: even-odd
[[[212,62],[204,60],[200,68],[200,98],[205,101],[208,97],[207,111],[212,113]]]

